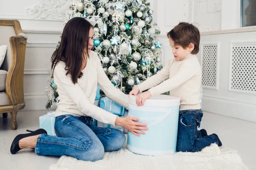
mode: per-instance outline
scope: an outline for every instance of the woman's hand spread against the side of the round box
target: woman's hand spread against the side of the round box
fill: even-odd
[[[125,129],[127,129],[129,132],[133,133],[136,136],[140,136],[141,133],[143,135],[145,135],[145,132],[141,131],[141,130],[148,130],[147,124],[145,123],[139,123],[139,122],[134,122],[134,121],[138,121],[139,118],[137,117],[116,117],[116,125],[122,126]]]

